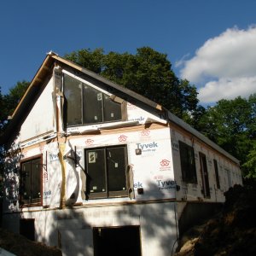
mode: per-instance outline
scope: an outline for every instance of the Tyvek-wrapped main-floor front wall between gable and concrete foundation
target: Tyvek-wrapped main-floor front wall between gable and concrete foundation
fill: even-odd
[[[170,132],[168,127],[153,125],[151,129],[136,126],[116,131],[102,131],[100,135],[71,137],[66,143],[40,143],[28,148],[22,148],[16,157],[16,164],[12,161],[10,172],[15,178],[15,186],[19,187],[19,173],[11,168],[18,166],[20,160],[26,160],[34,155],[43,155],[43,206],[60,207],[62,170],[60,148],[64,154],[69,154],[76,148],[79,156],[78,166],[73,160],[66,159],[65,165],[65,190],[66,200],[73,193],[76,198],[73,203],[87,203],[84,196],[84,149],[97,148],[110,145],[127,146],[128,165],[133,172],[135,201],[175,199],[176,184],[173,175],[172,150],[170,145]],[[142,149],[142,154],[137,155],[136,149]],[[138,195],[137,189],[143,189],[143,195]],[[18,190],[17,190],[18,193]],[[19,201],[16,195],[16,205],[9,204],[9,209],[19,210]],[[91,202],[92,200],[90,200]],[[130,201],[129,198],[102,199],[102,202]],[[5,210],[8,210],[5,207]]]

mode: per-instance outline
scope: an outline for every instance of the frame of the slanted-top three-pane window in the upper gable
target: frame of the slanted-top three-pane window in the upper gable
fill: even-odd
[[[68,124],[68,99],[67,99],[67,92],[66,92],[66,85],[65,85],[65,77],[68,77],[69,79],[74,79],[75,81],[78,82],[78,86],[79,86],[79,93],[80,96],[79,98],[79,105],[81,105],[80,107],[80,114],[79,114],[79,122],[76,123],[72,122],[71,125]],[[120,99],[117,96],[114,96],[113,94],[108,93],[106,90],[102,90],[101,88],[98,88],[96,85],[94,84],[90,84],[90,82],[86,82],[82,79],[77,78],[76,76],[69,74],[69,73],[62,73],[62,85],[63,85],[63,95],[64,95],[64,106],[63,106],[63,121],[64,121],[64,126],[66,128],[68,127],[73,127],[73,126],[83,126],[83,125],[97,125],[97,124],[103,124],[103,123],[110,123],[110,122],[119,122],[119,121],[125,121],[127,119],[127,108],[126,108],[126,102],[125,100]],[[94,121],[88,121],[84,118],[84,113],[86,111],[86,109],[84,108],[84,105],[86,104],[85,102],[85,93],[84,91],[86,89],[90,88],[91,91],[90,93],[95,90],[95,93],[97,92],[97,95],[102,94],[101,100],[99,100],[99,102],[101,102],[101,110],[99,111],[99,118],[100,121],[97,121],[95,119]],[[78,88],[77,88],[78,89]],[[105,99],[105,97],[108,96],[108,100]],[[108,101],[112,101],[113,103],[119,104],[119,114],[120,114],[120,119],[109,119],[108,116],[108,111],[106,111],[106,109],[108,110],[108,105],[105,106],[106,104],[108,104]]]

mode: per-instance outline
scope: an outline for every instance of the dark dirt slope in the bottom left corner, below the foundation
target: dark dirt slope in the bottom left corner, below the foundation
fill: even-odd
[[[61,256],[61,250],[0,229],[0,247],[17,256]]]

